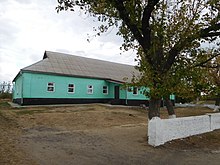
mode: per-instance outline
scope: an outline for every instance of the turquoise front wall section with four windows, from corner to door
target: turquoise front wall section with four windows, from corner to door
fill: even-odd
[[[24,98],[113,98],[111,86],[108,88],[108,94],[103,94],[103,86],[109,86],[105,80],[36,73],[23,73],[23,75]],[[55,83],[54,92],[47,91],[48,82]],[[74,84],[74,93],[68,93],[68,84]],[[93,94],[87,93],[88,85],[93,86]]]

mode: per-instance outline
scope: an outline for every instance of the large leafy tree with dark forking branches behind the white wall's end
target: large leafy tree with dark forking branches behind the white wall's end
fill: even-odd
[[[58,0],[58,12],[76,8],[100,21],[98,34],[116,26],[122,48],[137,50],[150,119],[160,116],[161,98],[175,93],[187,61],[197,59],[191,51],[202,42],[218,44],[220,36],[219,0]]]

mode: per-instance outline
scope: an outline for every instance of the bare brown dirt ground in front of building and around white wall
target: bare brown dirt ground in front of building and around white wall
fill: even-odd
[[[176,108],[178,117],[213,113]],[[167,118],[161,110],[161,118]],[[220,130],[168,142],[147,143],[147,111],[101,104],[12,108],[0,101],[0,164],[217,165]]]

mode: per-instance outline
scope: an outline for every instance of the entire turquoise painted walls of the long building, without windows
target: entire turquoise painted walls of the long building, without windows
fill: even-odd
[[[53,82],[55,90],[47,91],[47,84]],[[74,84],[74,93],[68,93],[68,84]],[[87,86],[93,86],[93,94],[87,93]],[[103,94],[103,86],[108,86],[108,94]],[[127,100],[146,100],[141,94],[134,95],[132,91],[128,92],[121,84],[109,82],[102,79],[68,77],[59,75],[49,75],[40,73],[23,72],[20,74],[14,84],[14,99],[18,98],[69,98],[69,99],[114,99],[115,86],[119,86],[119,99]]]

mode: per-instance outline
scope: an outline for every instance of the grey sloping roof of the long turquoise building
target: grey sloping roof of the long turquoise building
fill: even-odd
[[[45,51],[43,60],[21,71],[130,82],[139,72],[131,65]]]

